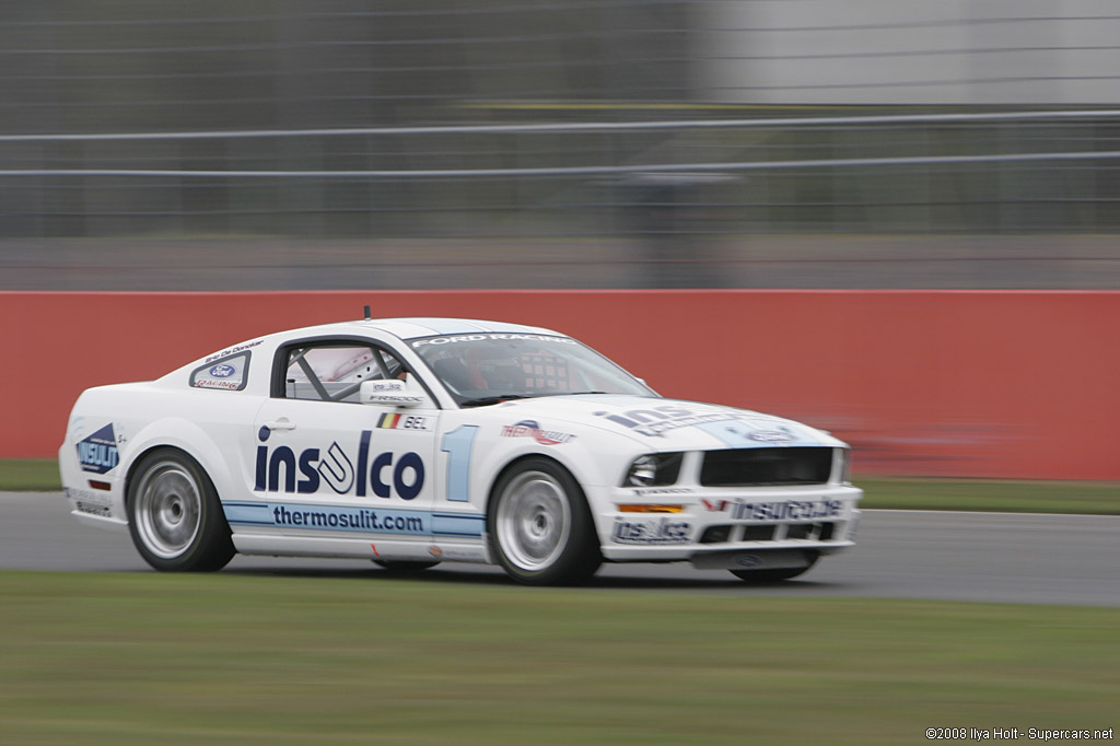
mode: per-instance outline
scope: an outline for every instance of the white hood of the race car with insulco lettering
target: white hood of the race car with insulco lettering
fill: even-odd
[[[578,394],[542,397],[498,404],[506,413],[534,427],[554,423],[594,427],[626,435],[653,450],[711,450],[844,444],[823,430],[772,414],[734,407],[675,399]],[[539,421],[538,421],[539,420]]]

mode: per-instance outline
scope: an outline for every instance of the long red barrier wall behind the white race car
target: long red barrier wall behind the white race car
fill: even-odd
[[[250,337],[374,316],[556,328],[662,394],[784,414],[857,470],[1120,479],[1120,292],[0,292],[0,457],[53,456],[77,394]]]

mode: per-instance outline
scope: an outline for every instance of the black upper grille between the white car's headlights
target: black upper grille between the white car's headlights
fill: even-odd
[[[706,487],[825,484],[831,473],[831,448],[709,450],[700,469],[700,484]]]

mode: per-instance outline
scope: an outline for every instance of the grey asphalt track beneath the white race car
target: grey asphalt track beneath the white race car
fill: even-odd
[[[608,565],[592,588],[1120,606],[1120,516],[865,511],[857,547],[796,580],[750,587],[689,565]],[[0,570],[149,572],[127,532],[86,526],[62,493],[0,493]],[[236,557],[223,572],[376,581],[360,560]],[[508,584],[444,565],[431,582]]]

